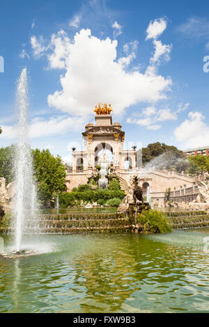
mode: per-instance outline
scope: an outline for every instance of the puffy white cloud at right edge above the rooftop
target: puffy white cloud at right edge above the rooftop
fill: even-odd
[[[176,127],[174,136],[183,147],[199,147],[209,143],[209,126],[201,112],[190,111],[188,119]]]

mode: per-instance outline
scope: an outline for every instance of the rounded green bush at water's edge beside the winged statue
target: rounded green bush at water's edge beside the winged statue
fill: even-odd
[[[171,232],[171,225],[167,216],[157,210],[147,210],[137,216],[137,223],[143,226],[144,232]]]

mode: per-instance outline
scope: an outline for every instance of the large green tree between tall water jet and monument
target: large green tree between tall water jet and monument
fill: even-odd
[[[65,190],[65,166],[61,157],[54,157],[49,150],[32,150],[32,155],[38,199],[45,207],[57,193]]]

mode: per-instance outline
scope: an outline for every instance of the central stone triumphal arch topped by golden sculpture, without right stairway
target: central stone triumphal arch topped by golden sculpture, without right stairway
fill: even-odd
[[[100,156],[106,153],[109,167],[114,173],[121,170],[136,168],[137,152],[123,150],[125,131],[118,122],[112,122],[111,104],[95,106],[95,124],[88,123],[82,133],[84,151],[72,148],[72,172],[68,173],[66,185],[68,191],[79,184],[88,182],[88,178],[95,173]]]

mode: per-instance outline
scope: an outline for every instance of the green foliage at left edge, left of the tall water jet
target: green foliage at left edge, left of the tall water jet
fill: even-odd
[[[0,177],[5,178],[6,184],[9,184],[14,180],[15,149],[15,145],[0,148]]]

